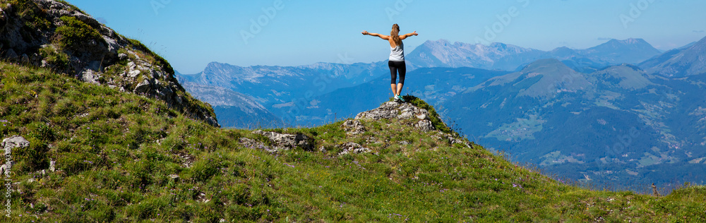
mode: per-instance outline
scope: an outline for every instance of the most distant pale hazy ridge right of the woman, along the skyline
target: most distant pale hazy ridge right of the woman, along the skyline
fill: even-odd
[[[406,59],[413,67],[473,67],[516,71],[538,59],[554,58],[575,69],[602,68],[611,64],[637,64],[659,55],[658,49],[642,39],[609,40],[589,49],[559,47],[549,52],[512,44],[467,44],[447,40],[427,41]]]

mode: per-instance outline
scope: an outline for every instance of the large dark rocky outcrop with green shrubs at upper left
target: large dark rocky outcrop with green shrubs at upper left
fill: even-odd
[[[220,126],[213,109],[188,95],[172,66],[140,42],[64,1],[15,2],[0,5],[0,59],[154,97],[186,116]]]

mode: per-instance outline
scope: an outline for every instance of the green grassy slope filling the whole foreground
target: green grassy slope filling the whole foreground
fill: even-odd
[[[342,122],[270,130],[317,148],[270,153],[239,143],[272,143],[261,136],[160,100],[5,62],[0,73],[0,136],[30,141],[11,151],[2,222],[706,221],[704,186],[660,198],[589,191],[397,120],[362,121],[357,136]],[[373,152],[339,156],[347,142]]]

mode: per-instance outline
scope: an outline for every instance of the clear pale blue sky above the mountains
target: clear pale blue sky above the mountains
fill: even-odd
[[[666,50],[706,36],[703,0],[281,0],[275,8],[277,1],[68,0],[142,41],[181,73],[198,73],[211,61],[238,66],[383,61],[389,54],[385,42],[360,32],[387,34],[393,23],[402,32],[419,32],[405,40],[408,51],[438,39],[551,50],[630,37]],[[251,30],[251,20],[265,25]],[[500,32],[486,36],[486,27]],[[243,31],[252,34],[247,44]]]

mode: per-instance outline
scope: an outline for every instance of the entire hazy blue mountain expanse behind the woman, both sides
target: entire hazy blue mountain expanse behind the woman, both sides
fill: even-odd
[[[703,181],[693,177],[702,174],[693,167],[706,159],[706,135],[696,119],[706,107],[698,97],[704,92],[699,61],[705,41],[664,54],[641,39],[550,52],[427,41],[407,55],[410,81],[403,93],[434,104],[470,138],[570,179],[616,186]],[[314,79],[333,71],[331,82],[337,84],[312,92]],[[277,75],[283,73],[288,75]],[[256,99],[285,126],[316,126],[387,100],[390,90],[380,87],[389,81],[386,73],[382,62],[247,68],[214,63],[180,80],[208,85],[213,77],[217,86]],[[309,87],[265,83],[276,81]],[[637,136],[624,137],[635,131]],[[622,152],[619,157],[614,147]]]

